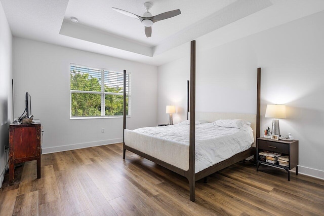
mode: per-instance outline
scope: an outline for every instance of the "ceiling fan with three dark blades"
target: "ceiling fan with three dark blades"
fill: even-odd
[[[135,19],[138,19],[144,26],[145,26],[145,34],[146,37],[149,38],[152,35],[152,25],[154,22],[164,20],[164,19],[169,19],[171,17],[175,17],[179,14],[181,14],[181,11],[179,9],[174,10],[174,11],[168,11],[165,13],[158,14],[156,16],[152,16],[152,14],[148,11],[152,7],[152,4],[149,2],[144,3],[144,8],[146,9],[146,12],[143,14],[143,16],[138,16],[136,14],[133,14],[131,12],[121,10],[118,8],[112,8],[112,10],[115,10],[119,13],[125,14],[127,16],[133,17]]]

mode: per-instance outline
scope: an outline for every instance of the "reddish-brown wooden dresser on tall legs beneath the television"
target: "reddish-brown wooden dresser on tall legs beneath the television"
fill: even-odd
[[[9,184],[14,182],[15,164],[37,160],[37,178],[41,178],[42,126],[13,123],[9,126]]]

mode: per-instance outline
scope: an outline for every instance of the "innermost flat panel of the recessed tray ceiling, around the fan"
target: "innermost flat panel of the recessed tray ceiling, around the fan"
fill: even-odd
[[[235,0],[151,0],[150,2],[153,6],[150,12],[153,16],[176,9],[180,9],[182,12],[181,15],[174,18],[154,23],[152,26],[151,38],[146,38],[144,26],[139,20],[132,19],[131,17],[111,9],[111,7],[115,7],[142,16],[146,11],[143,5],[145,2],[149,2],[149,0],[70,0],[64,19],[69,20],[72,16],[77,17],[83,25],[100,29],[148,46],[157,46],[163,40],[168,39],[180,30],[221,10],[235,2]],[[197,8],[199,8],[199,11]]]

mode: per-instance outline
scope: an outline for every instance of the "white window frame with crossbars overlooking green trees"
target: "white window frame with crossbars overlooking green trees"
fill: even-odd
[[[104,81],[105,79],[105,73],[111,72],[111,73],[117,73],[117,74],[122,74],[124,76],[124,72],[122,71],[115,71],[115,70],[109,70],[107,68],[96,68],[96,67],[90,67],[90,66],[85,66],[85,65],[80,65],[80,64],[74,64],[70,63],[70,76],[71,76],[71,67],[81,67],[81,68],[89,68],[89,69],[95,69],[95,70],[100,70],[101,73],[101,78],[100,80]],[[128,97],[128,113],[126,115],[127,118],[131,117],[131,73],[126,72],[126,79],[128,80],[128,85],[126,84],[126,89],[128,92],[126,92],[126,97]],[[124,78],[124,77],[123,77]],[[124,88],[124,85],[123,85]],[[100,116],[72,116],[72,93],[85,93],[85,94],[100,94],[101,98],[101,115]],[[84,91],[84,90],[72,90],[71,89],[71,79],[70,79],[70,120],[75,120],[75,119],[106,119],[106,118],[123,118],[123,114],[121,115],[116,115],[116,116],[108,116],[105,115],[105,98],[106,95],[124,95],[124,93],[118,93],[118,92],[106,92],[105,91],[105,81],[101,82],[101,91]]]

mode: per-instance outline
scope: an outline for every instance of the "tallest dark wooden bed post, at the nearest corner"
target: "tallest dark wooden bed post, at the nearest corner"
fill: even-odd
[[[195,88],[196,88],[196,41],[191,41],[190,55],[190,134],[189,134],[189,188],[190,200],[194,202],[194,187],[195,187]]]

